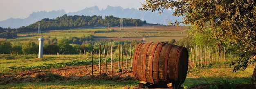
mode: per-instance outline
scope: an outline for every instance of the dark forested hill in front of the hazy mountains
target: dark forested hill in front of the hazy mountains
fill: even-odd
[[[22,26],[21,28],[17,28],[16,32],[36,32],[38,30],[38,23],[40,23],[41,31],[45,30],[60,30],[60,29],[70,29],[70,28],[78,28],[82,26],[107,26],[108,23],[110,26],[119,26],[121,18],[113,17],[113,16],[84,16],[84,15],[74,15],[67,16],[66,14],[57,17],[56,19],[42,19],[41,21],[37,21],[27,27]],[[146,21],[141,21],[140,19],[127,19],[123,18],[124,26],[141,26],[143,24],[147,24]]]

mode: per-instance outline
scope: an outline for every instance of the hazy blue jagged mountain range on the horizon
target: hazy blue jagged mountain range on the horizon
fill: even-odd
[[[108,16],[113,15],[114,17],[120,18],[132,18],[132,19],[141,19],[142,21],[146,20],[148,23],[154,24],[164,24],[168,25],[168,21],[181,21],[182,17],[174,17],[173,11],[171,10],[164,10],[164,13],[160,15],[158,12],[151,12],[151,11],[139,11],[135,8],[122,8],[121,6],[107,6],[106,9],[99,10],[98,6],[93,6],[90,8],[85,8],[81,11],[73,12],[73,13],[66,13],[64,10],[58,11],[38,11],[33,12],[29,15],[29,17],[25,19],[13,19],[9,18],[4,21],[0,21],[0,27],[2,28],[19,28],[22,26],[27,26],[36,21],[39,21],[44,18],[54,19],[56,17],[60,17],[64,14],[67,15],[101,15],[101,16]]]

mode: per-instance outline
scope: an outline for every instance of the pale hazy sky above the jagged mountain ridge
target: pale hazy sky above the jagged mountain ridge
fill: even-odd
[[[86,7],[109,6],[139,8],[144,0],[0,0],[0,21],[13,18],[24,19],[32,12],[64,9],[67,13],[76,12]]]

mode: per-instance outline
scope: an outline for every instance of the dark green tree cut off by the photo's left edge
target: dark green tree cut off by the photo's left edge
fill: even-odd
[[[0,41],[0,54],[11,53],[11,43],[7,41]]]

